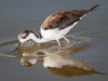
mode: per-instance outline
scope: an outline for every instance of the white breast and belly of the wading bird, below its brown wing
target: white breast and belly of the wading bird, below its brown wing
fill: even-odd
[[[49,30],[43,30],[41,28],[41,35],[42,35],[43,38],[45,38],[48,40],[58,40],[58,39],[63,38],[71,28],[73,28],[73,26],[77,23],[78,22],[76,22],[72,26],[67,27],[65,29],[60,29],[60,30],[58,30],[58,28],[49,29]]]

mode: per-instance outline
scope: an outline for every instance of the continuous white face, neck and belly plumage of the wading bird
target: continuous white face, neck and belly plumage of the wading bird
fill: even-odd
[[[18,40],[19,42],[24,43],[25,41],[27,40],[33,40],[36,41],[37,43],[42,43],[42,42],[48,42],[48,41],[51,41],[51,40],[56,40],[58,41],[60,38],[63,38],[71,28],[73,28],[76,25],[78,24],[78,22],[76,22],[73,25],[65,28],[65,29],[58,29],[58,28],[55,28],[55,29],[49,29],[49,30],[44,30],[41,28],[41,36],[42,38],[38,38],[36,37],[36,35],[33,32],[30,32],[26,39],[22,39],[19,38],[18,36]]]

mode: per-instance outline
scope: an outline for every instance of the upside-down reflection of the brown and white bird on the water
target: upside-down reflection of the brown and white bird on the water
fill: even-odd
[[[87,76],[93,73],[104,75],[95,71],[91,67],[86,67],[83,63],[70,58],[70,54],[76,52],[76,49],[65,48],[59,50],[39,50],[31,52],[24,52],[21,57],[22,65],[27,67],[33,66],[40,59],[45,69],[56,76],[75,77]],[[79,50],[79,49],[78,49]],[[27,58],[26,58],[27,57]]]

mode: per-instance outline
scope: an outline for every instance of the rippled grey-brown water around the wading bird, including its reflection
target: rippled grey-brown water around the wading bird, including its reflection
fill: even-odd
[[[51,41],[11,52],[22,30],[38,33],[51,13],[95,4],[100,4],[98,10],[67,35],[69,46],[62,40],[60,51]],[[107,4],[108,0],[0,0],[0,81],[108,81]]]

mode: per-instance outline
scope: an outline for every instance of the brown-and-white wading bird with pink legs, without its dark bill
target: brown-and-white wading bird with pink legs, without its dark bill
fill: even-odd
[[[18,40],[21,44],[29,39],[37,43],[56,40],[58,46],[60,46],[59,39],[64,38],[69,44],[70,40],[67,39],[65,35],[73,28],[83,16],[95,10],[98,5],[99,4],[89,10],[59,11],[53,13],[48,16],[41,25],[39,36],[35,35],[31,30],[23,30],[18,36]]]

